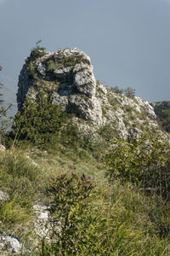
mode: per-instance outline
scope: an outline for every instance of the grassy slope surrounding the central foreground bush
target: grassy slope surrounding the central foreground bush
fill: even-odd
[[[0,203],[1,230],[19,236],[29,245],[35,236],[31,232],[32,205],[37,201],[48,202],[45,189],[51,177],[74,172],[79,176],[85,173],[96,185],[90,199],[90,212],[94,211],[96,221],[94,228],[88,230],[91,236],[94,229],[94,243],[91,248],[82,247],[77,255],[170,253],[169,203],[156,195],[145,195],[130,183],[122,184],[117,179],[108,183],[106,167],[88,150],[79,148],[77,151],[61,144],[47,151],[33,147],[9,149],[0,154],[0,168],[0,187],[10,197]],[[54,255],[41,252],[40,248],[39,253],[33,255]]]

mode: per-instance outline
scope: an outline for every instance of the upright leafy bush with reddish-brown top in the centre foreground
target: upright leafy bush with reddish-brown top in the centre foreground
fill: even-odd
[[[102,222],[99,223],[90,201],[93,189],[94,184],[83,174],[81,177],[74,173],[63,174],[51,181],[48,195],[54,217],[53,242],[43,244],[43,252],[46,250],[54,255],[100,252],[101,248],[96,245],[101,234],[97,229]]]

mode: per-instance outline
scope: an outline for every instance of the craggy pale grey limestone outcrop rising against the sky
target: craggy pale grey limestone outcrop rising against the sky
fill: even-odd
[[[127,137],[133,128],[158,129],[150,104],[105,88],[94,78],[88,55],[77,48],[41,52],[36,57],[31,54],[20,72],[18,87],[19,109],[26,96],[34,100],[39,90],[50,91],[54,102],[74,113],[79,127],[85,130],[111,125],[120,136]]]

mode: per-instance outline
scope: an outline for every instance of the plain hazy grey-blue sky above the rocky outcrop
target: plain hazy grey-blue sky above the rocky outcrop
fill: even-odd
[[[0,0],[0,81],[14,101],[35,43],[82,49],[107,86],[170,101],[170,0]]]

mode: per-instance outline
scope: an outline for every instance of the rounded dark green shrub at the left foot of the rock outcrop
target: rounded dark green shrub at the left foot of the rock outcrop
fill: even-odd
[[[26,100],[14,118],[12,136],[35,144],[49,143],[58,136],[65,120],[62,108],[53,103],[51,95],[39,91],[36,100]]]

